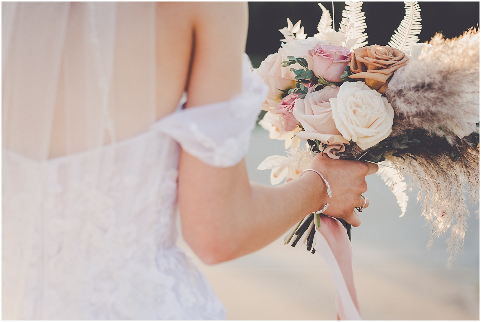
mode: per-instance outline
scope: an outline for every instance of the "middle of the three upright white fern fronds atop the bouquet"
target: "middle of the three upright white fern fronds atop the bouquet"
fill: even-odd
[[[342,21],[339,23],[339,31],[346,35],[346,44],[355,42],[352,49],[361,48],[367,45],[366,16],[362,11],[362,1],[346,1],[345,9],[342,10]]]

